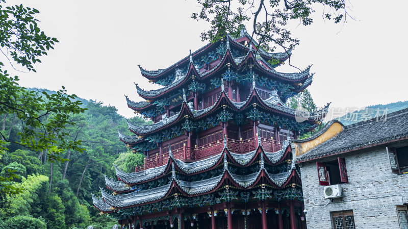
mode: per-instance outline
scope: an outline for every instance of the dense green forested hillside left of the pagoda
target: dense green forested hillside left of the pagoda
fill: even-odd
[[[29,89],[30,90],[30,89]],[[56,93],[43,89],[48,94]],[[44,151],[32,151],[21,145],[9,143],[4,155],[0,154],[0,171],[7,176],[9,169],[17,175],[8,185],[18,194],[1,192],[0,228],[112,228],[116,219],[99,215],[92,205],[92,193],[98,195],[105,187],[104,175],[115,176],[113,164],[124,171],[132,171],[144,157],[129,152],[119,141],[117,130],[130,134],[126,120],[112,106],[79,98],[84,113],[70,117],[74,125],[67,125],[66,139],[81,141],[83,152],[66,150],[64,162],[51,163]],[[24,126],[14,114],[1,118],[1,132],[9,140],[18,142]],[[140,117],[133,123],[144,123]],[[41,130],[36,130],[41,131]],[[2,188],[0,188],[1,190]]]

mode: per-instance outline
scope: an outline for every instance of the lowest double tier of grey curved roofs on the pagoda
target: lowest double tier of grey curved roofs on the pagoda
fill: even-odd
[[[268,183],[268,187],[279,189],[287,184],[299,184],[299,170],[291,158],[289,141],[284,142],[283,149],[277,152],[267,152],[259,145],[257,150],[247,154],[232,154],[224,140],[224,150],[213,157],[192,163],[185,163],[175,159],[170,150],[170,157],[163,166],[150,168],[139,172],[125,173],[116,167],[119,181],[115,182],[105,176],[106,186],[114,191],[111,194],[101,188],[102,199],[94,197],[94,205],[100,211],[108,213],[122,208],[131,208],[152,201],[164,200],[171,194],[180,192],[183,196],[193,197],[205,195],[220,188],[222,184],[234,183],[238,190],[244,191],[254,188],[260,182]],[[287,161],[278,170],[271,169]],[[238,174],[236,167],[254,166],[249,174]],[[217,171],[218,169],[218,171]],[[216,171],[212,177],[206,177],[209,171]],[[201,174],[200,180],[191,181],[193,175]],[[184,177],[184,179],[183,179]],[[189,181],[190,180],[190,181]],[[146,188],[143,184],[158,182],[162,185]],[[123,194],[118,194],[123,193]]]

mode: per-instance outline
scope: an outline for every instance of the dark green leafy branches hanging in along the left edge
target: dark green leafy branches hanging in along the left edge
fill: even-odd
[[[4,0],[0,1],[3,5]],[[47,55],[47,50],[53,49],[56,38],[48,37],[37,26],[35,15],[38,10],[23,7],[22,5],[4,7],[0,5],[0,36],[1,52],[9,59],[11,67],[13,62],[25,67],[29,71],[35,71],[34,64],[41,62],[39,58]],[[27,90],[18,85],[18,77],[10,77],[4,64],[0,62],[0,116],[12,115],[14,119],[22,122],[18,138],[10,138],[11,131],[7,136],[4,128],[0,131],[0,154],[7,150],[6,143],[14,143],[33,149],[35,151],[46,151],[48,160],[52,163],[62,162],[60,157],[66,149],[83,151],[80,141],[67,141],[66,125],[73,124],[68,120],[71,114],[84,111],[80,107],[81,102],[75,100],[76,95],[66,93],[64,87],[55,94]],[[4,123],[4,122],[3,122]],[[51,167],[52,168],[52,167]],[[12,172],[8,176],[0,177],[2,192],[13,193],[5,185],[10,180]]]

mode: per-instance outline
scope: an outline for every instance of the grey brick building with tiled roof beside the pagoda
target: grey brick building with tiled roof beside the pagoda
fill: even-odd
[[[292,146],[308,228],[408,228],[408,109],[347,126],[331,121]],[[325,198],[338,184],[341,197]]]

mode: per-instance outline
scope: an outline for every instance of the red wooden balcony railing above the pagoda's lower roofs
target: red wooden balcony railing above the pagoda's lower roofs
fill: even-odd
[[[263,149],[267,152],[276,152],[282,149],[282,143],[272,140],[259,138]],[[250,138],[245,140],[235,140],[235,139],[226,139],[226,144],[230,152],[236,154],[245,154],[246,152],[253,151],[258,146],[257,138]],[[180,159],[183,161],[197,161],[204,158],[208,158],[213,155],[219,154],[224,149],[224,142],[222,140],[212,142],[207,145],[198,146],[197,148],[184,147],[172,150],[173,157],[175,159]],[[165,165],[169,159],[169,153],[159,155],[156,154],[156,157],[152,157],[144,160],[144,165],[136,167],[135,171],[143,171],[149,168],[155,168],[162,165]]]

